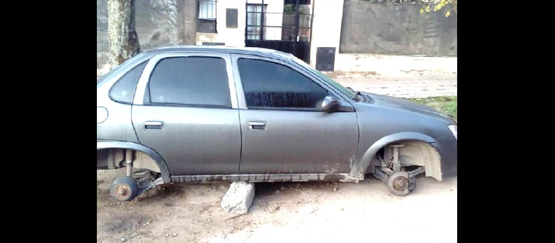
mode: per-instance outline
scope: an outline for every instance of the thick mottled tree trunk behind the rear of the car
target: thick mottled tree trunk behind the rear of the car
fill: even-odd
[[[108,40],[110,68],[139,54],[135,32],[135,0],[108,0]]]

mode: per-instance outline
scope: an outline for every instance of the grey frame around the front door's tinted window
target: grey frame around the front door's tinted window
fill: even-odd
[[[268,61],[270,63],[275,63],[278,65],[284,65],[287,68],[290,68],[294,71],[296,71],[297,73],[305,76],[307,79],[309,79],[312,82],[315,82],[315,84],[319,85],[322,89],[324,89],[325,91],[328,92],[329,96],[332,97],[336,97],[339,100],[345,100],[341,95],[337,94],[337,92],[333,89],[331,89],[329,86],[327,86],[326,84],[324,84],[323,82],[321,82],[320,80],[315,79],[314,77],[312,77],[312,75],[310,75],[307,71],[297,67],[296,65],[291,65],[290,63],[286,62],[286,61],[282,61],[279,59],[274,59],[274,58],[268,58],[265,56],[258,56],[258,55],[243,55],[243,54],[233,54],[232,56],[233,59],[233,72],[235,75],[235,86],[237,89],[237,96],[238,96],[238,101],[239,101],[239,108],[240,109],[244,109],[244,110],[277,110],[277,111],[310,111],[310,112],[322,112],[322,110],[320,108],[300,108],[300,107],[248,107],[246,104],[246,97],[245,97],[245,91],[244,91],[244,86],[243,86],[243,80],[241,80],[241,74],[239,73],[239,60],[240,59],[254,59],[254,60],[261,60],[261,61]]]

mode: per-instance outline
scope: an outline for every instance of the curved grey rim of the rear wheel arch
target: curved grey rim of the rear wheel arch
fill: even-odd
[[[168,166],[166,166],[166,162],[164,161],[162,156],[160,156],[160,154],[154,151],[154,149],[144,146],[142,144],[132,143],[132,142],[97,140],[97,150],[107,149],[107,148],[134,149],[136,151],[140,151],[145,154],[148,154],[150,158],[154,159],[154,162],[156,162],[156,164],[158,165],[158,168],[160,168],[160,174],[162,174],[162,179],[164,180],[164,183],[171,182],[170,173],[168,170]]]

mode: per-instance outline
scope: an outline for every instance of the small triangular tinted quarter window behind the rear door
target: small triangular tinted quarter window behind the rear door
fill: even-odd
[[[133,102],[135,89],[137,88],[137,82],[139,82],[139,77],[143,73],[143,69],[146,65],[147,62],[145,61],[135,66],[115,82],[110,89],[110,98],[117,102],[131,104]]]

